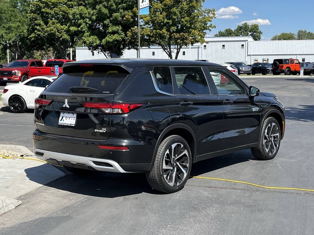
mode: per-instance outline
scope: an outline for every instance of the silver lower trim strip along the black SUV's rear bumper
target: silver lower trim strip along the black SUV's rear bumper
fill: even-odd
[[[39,155],[36,152],[41,153],[42,155]],[[118,163],[109,159],[90,158],[90,157],[84,157],[84,156],[78,156],[78,155],[72,155],[72,154],[63,154],[63,153],[57,153],[57,152],[52,152],[52,151],[47,151],[47,150],[42,150],[42,149],[34,149],[34,154],[36,158],[39,158],[44,161],[47,161],[47,159],[51,158],[51,159],[56,159],[59,162],[68,161],[73,164],[77,164],[77,163],[85,164],[99,171],[131,173],[131,172],[123,170]],[[112,165],[112,167],[95,165],[94,161],[108,163]]]

